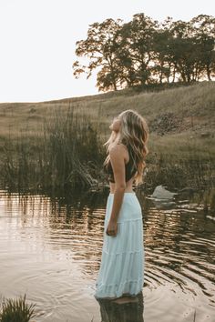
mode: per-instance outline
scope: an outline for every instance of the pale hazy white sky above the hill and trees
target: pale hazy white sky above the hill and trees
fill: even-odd
[[[145,13],[189,21],[215,15],[214,0],[0,0],[0,102],[97,94],[96,75],[76,79],[77,40],[89,24]]]

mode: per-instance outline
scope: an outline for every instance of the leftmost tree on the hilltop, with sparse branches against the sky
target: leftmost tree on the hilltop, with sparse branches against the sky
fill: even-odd
[[[115,55],[115,35],[120,27],[121,20],[107,19],[103,23],[89,25],[87,39],[77,41],[77,56],[89,59],[88,65],[81,65],[79,61],[73,64],[74,75],[78,77],[87,73],[87,78],[97,67],[98,90],[118,89],[118,61]]]

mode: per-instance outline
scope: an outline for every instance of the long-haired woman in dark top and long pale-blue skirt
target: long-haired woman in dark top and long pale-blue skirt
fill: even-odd
[[[104,145],[108,154],[104,166],[110,193],[95,297],[125,300],[142,290],[144,280],[142,212],[132,185],[142,183],[148,125],[138,112],[128,109],[109,127],[112,133]]]

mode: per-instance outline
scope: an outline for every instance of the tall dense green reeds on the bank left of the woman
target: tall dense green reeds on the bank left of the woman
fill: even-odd
[[[67,114],[55,110],[37,136],[21,133],[16,139],[7,138],[3,152],[4,186],[18,189],[96,185],[104,157],[97,124],[72,106]]]

